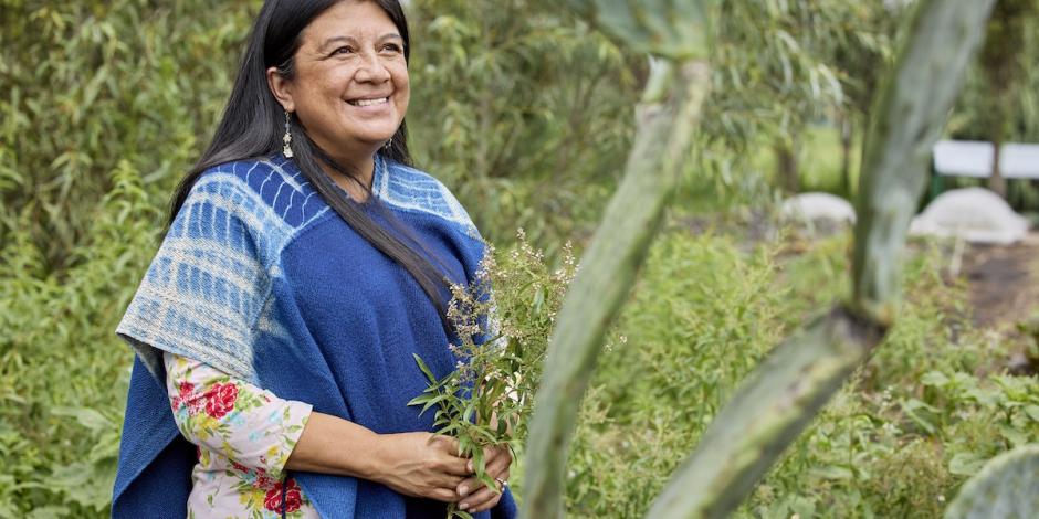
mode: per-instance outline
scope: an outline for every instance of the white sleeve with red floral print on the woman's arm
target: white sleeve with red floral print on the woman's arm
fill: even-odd
[[[243,473],[280,479],[312,406],[178,354],[167,352],[162,360],[180,433]]]

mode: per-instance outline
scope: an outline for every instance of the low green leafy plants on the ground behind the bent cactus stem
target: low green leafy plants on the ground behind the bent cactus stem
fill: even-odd
[[[839,297],[847,237],[789,254],[672,230],[653,246],[584,403],[568,465],[575,517],[638,517],[692,451],[734,384],[809,308]],[[955,301],[922,247],[900,322],[784,455],[739,517],[936,517],[989,457],[1039,438],[1039,381]],[[837,287],[819,290],[820,287]],[[949,308],[949,306],[953,308]],[[957,329],[951,337],[949,329]]]

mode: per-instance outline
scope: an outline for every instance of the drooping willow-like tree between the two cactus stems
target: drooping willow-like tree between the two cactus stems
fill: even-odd
[[[716,88],[703,133],[730,152],[765,142],[776,157],[776,182],[794,192],[805,128],[836,114],[850,165],[851,140],[865,125],[862,114],[890,57],[901,3],[752,0],[723,2],[722,12]]]

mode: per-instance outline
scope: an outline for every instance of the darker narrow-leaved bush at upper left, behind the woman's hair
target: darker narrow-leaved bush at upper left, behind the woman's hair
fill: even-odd
[[[222,109],[250,11],[0,0],[0,243],[24,231],[38,268],[60,272],[119,163],[170,192]]]

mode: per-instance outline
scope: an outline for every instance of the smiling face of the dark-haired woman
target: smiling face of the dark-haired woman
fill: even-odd
[[[376,2],[344,0],[303,31],[295,76],[272,87],[333,157],[370,157],[408,110],[405,41]],[[279,89],[283,95],[279,95]]]

